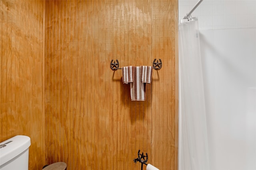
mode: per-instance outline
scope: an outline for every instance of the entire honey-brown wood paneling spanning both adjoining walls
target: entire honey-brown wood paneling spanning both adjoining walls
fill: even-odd
[[[138,149],[148,163],[176,170],[177,5],[1,0],[0,141],[30,136],[32,170],[45,158],[69,169],[138,169]],[[164,65],[153,72],[147,100],[131,102],[111,59],[139,66],[154,58]]]

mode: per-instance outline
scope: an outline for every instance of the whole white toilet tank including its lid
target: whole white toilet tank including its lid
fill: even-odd
[[[0,143],[0,170],[28,170],[30,137],[17,135]]]

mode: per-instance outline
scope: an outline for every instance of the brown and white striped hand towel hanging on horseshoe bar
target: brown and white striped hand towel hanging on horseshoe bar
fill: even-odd
[[[146,83],[152,79],[151,66],[127,66],[122,67],[123,82],[130,83],[132,101],[146,100]]]

